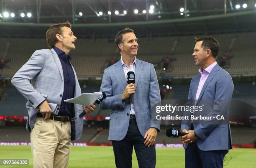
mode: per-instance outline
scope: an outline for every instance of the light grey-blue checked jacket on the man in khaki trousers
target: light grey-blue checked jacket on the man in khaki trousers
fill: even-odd
[[[74,97],[76,97],[81,94],[81,89],[75,71],[74,75],[76,80]],[[33,129],[38,113],[35,108],[44,99],[49,102],[52,114],[58,114],[64,91],[64,77],[59,56],[54,49],[35,51],[28,62],[13,76],[12,83],[28,100],[26,103],[28,109],[27,130]],[[71,137],[72,140],[78,140],[82,135],[83,128],[83,118],[79,117],[82,106],[74,104],[74,112],[75,117],[70,120],[72,124]]]

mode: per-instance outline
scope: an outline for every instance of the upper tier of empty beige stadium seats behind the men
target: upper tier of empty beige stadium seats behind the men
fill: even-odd
[[[228,56],[228,64],[225,67],[231,75],[255,75],[256,62],[254,39],[256,33],[212,34],[219,43],[218,56]],[[192,57],[195,46],[195,36],[170,36],[139,38],[138,59],[150,63],[161,63],[161,60],[170,57],[176,61],[169,64],[169,70],[161,74],[161,68],[157,69],[157,75],[173,76],[175,78],[190,78],[198,74]],[[197,36],[198,37],[198,36]],[[36,49],[48,48],[46,40],[42,38],[1,38],[0,52],[5,51],[5,46],[10,43],[7,59],[8,66],[3,69],[2,76],[12,78],[16,71],[30,58]],[[231,45],[232,44],[232,45]],[[72,65],[76,69],[80,79],[88,77],[102,77],[105,63],[110,59],[119,60],[120,53],[113,40],[108,38],[78,39],[76,50],[70,55]]]

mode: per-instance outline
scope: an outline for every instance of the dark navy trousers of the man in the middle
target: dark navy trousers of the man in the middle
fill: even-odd
[[[139,168],[156,167],[155,145],[147,147],[144,144],[144,137],[138,130],[136,120],[130,120],[127,134],[123,140],[113,140],[115,165],[117,168],[131,168],[133,146],[137,156]]]

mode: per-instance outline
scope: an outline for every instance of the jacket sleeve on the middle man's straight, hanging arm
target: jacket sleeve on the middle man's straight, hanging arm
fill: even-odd
[[[154,107],[155,104],[161,104],[161,96],[159,90],[159,84],[156,76],[156,71],[154,65],[151,64],[150,70],[150,81],[149,81],[149,102],[150,107]],[[155,116],[155,115],[151,115]],[[150,127],[155,127],[160,131],[160,120],[156,120],[156,118],[151,118]]]

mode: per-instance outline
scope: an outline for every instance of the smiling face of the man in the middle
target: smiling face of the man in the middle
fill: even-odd
[[[134,33],[129,32],[123,34],[123,42],[118,44],[122,55],[136,56],[138,52],[138,42]]]

